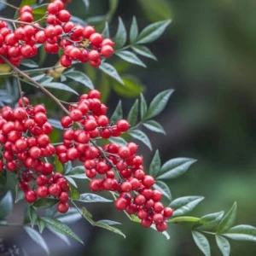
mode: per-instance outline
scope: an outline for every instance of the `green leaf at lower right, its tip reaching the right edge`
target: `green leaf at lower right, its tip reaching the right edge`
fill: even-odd
[[[256,228],[250,225],[237,225],[222,235],[236,241],[256,241]]]

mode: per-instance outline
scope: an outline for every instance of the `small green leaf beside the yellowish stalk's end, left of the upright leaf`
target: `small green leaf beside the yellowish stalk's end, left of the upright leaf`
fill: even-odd
[[[224,212],[215,212],[201,217],[199,220],[201,225],[196,227],[196,230],[212,231],[218,226],[223,216]]]

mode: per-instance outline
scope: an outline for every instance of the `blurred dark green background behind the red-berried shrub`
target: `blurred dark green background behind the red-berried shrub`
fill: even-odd
[[[8,2],[18,5],[20,1]],[[82,0],[73,0],[67,8],[73,15],[88,20],[95,15],[105,15],[109,3],[106,0],[90,1],[90,9],[86,11]],[[121,62],[117,67],[121,72],[137,76],[143,84],[140,90],[144,90],[148,102],[161,90],[175,89],[166,110],[157,118],[166,129],[166,137],[148,133],[154,149],[160,149],[163,162],[179,156],[198,160],[183,177],[169,182],[173,198],[184,195],[206,196],[206,200],[192,212],[195,216],[227,211],[233,201],[237,201],[237,224],[254,226],[255,10],[255,0],[130,0],[119,1],[113,16],[108,17],[112,35],[116,31],[119,16],[129,28],[132,16],[136,15],[141,29],[154,21],[172,19],[165,35],[149,45],[158,57],[158,62],[145,60],[147,69],[128,67]],[[95,25],[102,28],[103,24],[97,22]],[[44,65],[49,66],[55,61],[55,56],[51,56]],[[85,71],[91,77],[96,75],[88,67]],[[121,98],[127,113],[134,99],[117,94],[117,90],[113,90],[113,83],[107,78],[98,81],[109,111],[113,111]],[[33,93],[30,88],[25,91]],[[38,101],[37,96],[34,101]],[[141,153],[145,155],[147,166],[153,153],[143,146]],[[17,207],[13,218],[19,218],[22,207]],[[67,247],[55,236],[45,233],[44,238],[53,255],[201,255],[185,227],[170,225],[171,240],[167,241],[154,230],[144,230],[129,222],[113,205],[90,205],[89,209],[95,218],[124,223],[121,229],[126,239],[107,230],[92,228],[81,220],[73,224],[72,228],[83,237],[84,247],[76,241],[72,241],[72,247]],[[28,255],[41,255],[41,249],[19,229],[6,230],[1,227],[0,236],[10,244],[24,247]],[[209,239],[212,255],[221,255],[214,239],[211,236]],[[231,255],[256,254],[256,245],[253,243],[231,241],[231,247]]]

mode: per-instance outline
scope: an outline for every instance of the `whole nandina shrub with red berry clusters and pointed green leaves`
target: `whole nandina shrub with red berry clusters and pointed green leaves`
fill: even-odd
[[[150,166],[143,165],[143,155],[136,141],[144,143],[150,150],[152,145],[140,128],[144,126],[165,134],[163,127],[153,118],[166,107],[172,90],[160,92],[149,106],[141,94],[126,119],[119,103],[110,117],[108,106],[102,102],[104,92],[96,90],[89,76],[79,70],[84,66],[98,68],[98,73],[121,86],[119,91],[131,95],[134,87],[131,90],[128,84],[134,80],[120,76],[115,64],[108,63],[107,58],[116,55],[123,61],[145,67],[139,55],[156,58],[144,44],[159,38],[170,20],[156,22],[139,32],[137,20],[133,18],[130,42],[126,44],[127,31],[121,19],[112,38],[108,23],[103,31],[97,32],[94,26],[85,25],[83,20],[70,14],[65,7],[69,2],[55,0],[39,5],[33,0],[23,0],[20,7],[6,2],[9,8],[15,9],[15,17],[0,18],[0,61],[1,70],[5,70],[2,76],[6,89],[1,97],[0,182],[4,187],[6,180],[13,178],[15,203],[26,201],[30,219],[21,224],[26,233],[47,253],[49,249],[40,235],[45,228],[83,243],[60,220],[61,214],[66,214],[69,220],[76,214],[93,226],[125,236],[114,226],[119,223],[96,221],[84,206],[77,206],[77,201],[114,201],[116,209],[125,212],[130,221],[157,230],[167,239],[168,225],[189,224],[196,245],[205,255],[210,255],[208,235],[216,236],[224,255],[230,254],[227,238],[255,241],[256,229],[253,226],[234,226],[236,203],[226,214],[214,212],[196,218],[188,213],[203,197],[183,196],[172,200],[165,181],[183,175],[195,160],[177,158],[161,165],[160,152],[156,150]],[[84,1],[84,4],[88,7],[89,2]],[[31,59],[46,54],[58,55],[54,67],[38,67]],[[9,78],[19,93],[19,98],[14,101],[8,97]],[[83,84],[83,87],[74,90],[71,81]],[[23,92],[27,86],[35,86],[32,93],[42,91],[47,96],[46,101],[34,104],[32,93],[25,95]],[[54,89],[54,92],[46,88]],[[61,90],[68,92],[64,99],[59,93]],[[55,113],[48,113],[48,100],[55,102],[62,111],[61,118],[49,118]],[[52,136],[54,129],[61,131],[58,142]],[[84,186],[87,185],[92,193],[80,194],[77,179],[83,180]],[[101,191],[107,191],[109,198],[102,197]],[[5,220],[12,208],[13,195],[9,191],[0,201],[0,225],[12,225]],[[44,211],[42,216],[38,214],[41,208],[51,209],[53,214]],[[67,241],[64,236],[60,238]]]

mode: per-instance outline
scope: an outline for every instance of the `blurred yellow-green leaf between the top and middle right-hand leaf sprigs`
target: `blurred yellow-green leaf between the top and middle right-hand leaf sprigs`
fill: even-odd
[[[125,86],[115,83],[112,84],[113,90],[119,95],[124,97],[137,97],[139,96],[143,91],[144,87],[143,84],[136,78],[131,75],[125,75],[122,77]]]

